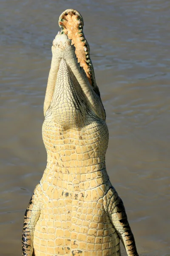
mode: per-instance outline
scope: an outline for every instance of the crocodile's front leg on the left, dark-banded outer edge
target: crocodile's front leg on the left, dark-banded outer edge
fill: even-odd
[[[36,190],[36,189],[35,189]],[[33,256],[33,237],[34,230],[37,220],[40,216],[40,207],[36,200],[37,196],[35,193],[31,197],[26,213],[24,216],[23,224],[23,236],[22,236],[22,255],[23,256]]]

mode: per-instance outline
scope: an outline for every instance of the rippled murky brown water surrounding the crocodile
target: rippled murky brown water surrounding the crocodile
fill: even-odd
[[[21,255],[23,215],[45,169],[42,105],[68,8],[85,21],[110,132],[108,174],[139,254],[170,256],[170,1],[0,3],[0,256]]]

